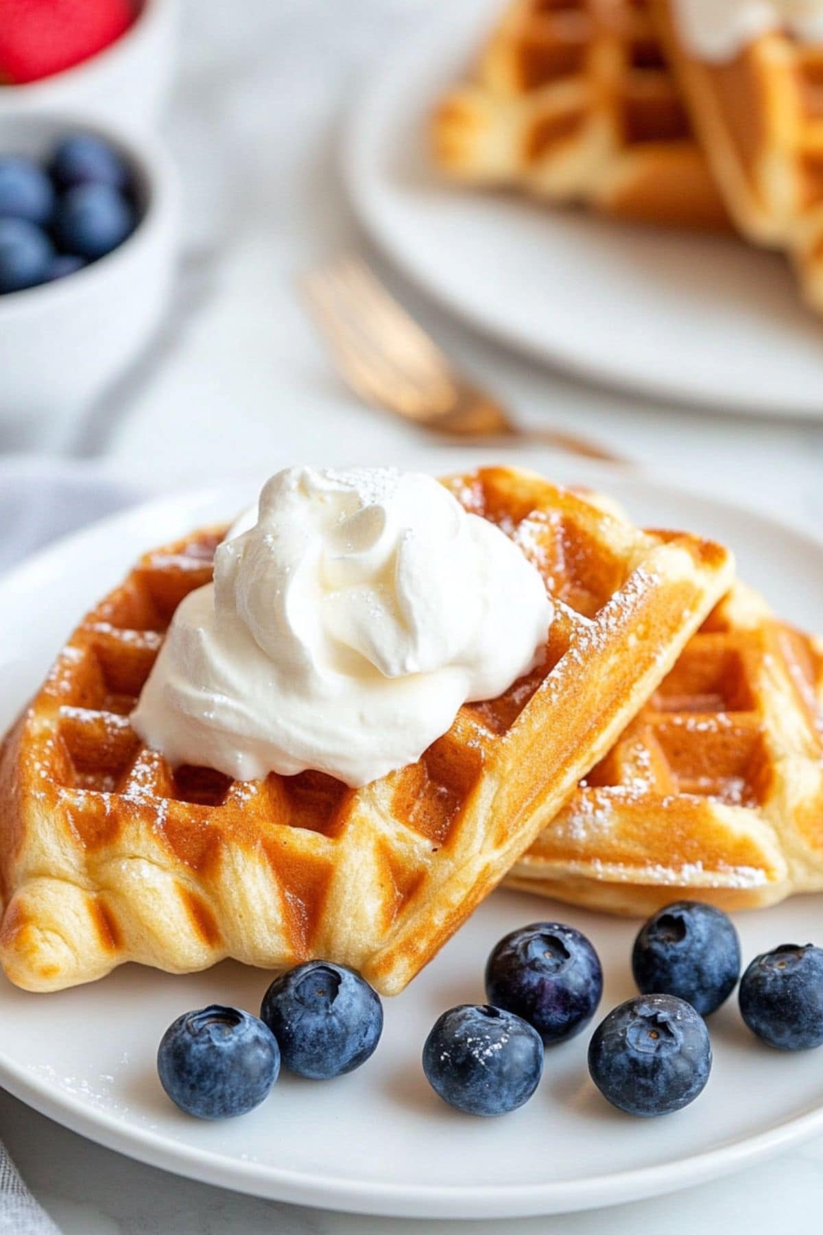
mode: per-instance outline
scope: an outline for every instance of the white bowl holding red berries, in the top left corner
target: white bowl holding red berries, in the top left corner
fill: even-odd
[[[42,82],[0,85],[0,122],[65,111],[111,128],[151,128],[172,83],[175,10],[175,0],[143,0],[126,33],[90,59]]]

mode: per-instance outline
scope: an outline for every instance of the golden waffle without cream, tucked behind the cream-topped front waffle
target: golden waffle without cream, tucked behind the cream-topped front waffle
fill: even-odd
[[[613,913],[823,889],[823,641],[735,584],[510,883]]]

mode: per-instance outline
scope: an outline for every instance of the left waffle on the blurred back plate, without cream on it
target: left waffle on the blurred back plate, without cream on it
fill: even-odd
[[[647,0],[515,0],[432,122],[458,180],[624,219],[724,227]]]

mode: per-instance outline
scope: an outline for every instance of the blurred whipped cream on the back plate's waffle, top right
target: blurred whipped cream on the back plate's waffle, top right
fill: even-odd
[[[823,42],[823,0],[675,0],[675,11],[684,42],[703,61],[734,59],[772,30]]]

